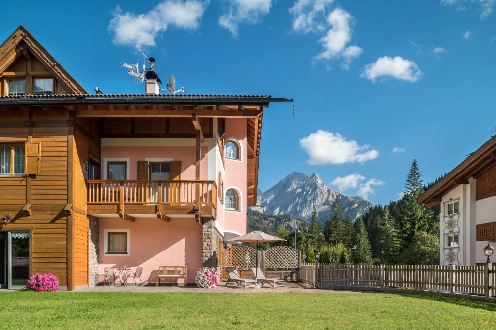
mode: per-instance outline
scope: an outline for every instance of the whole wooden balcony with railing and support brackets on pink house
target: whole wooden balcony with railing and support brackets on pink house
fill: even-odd
[[[86,180],[88,214],[98,217],[216,217],[214,181]]]

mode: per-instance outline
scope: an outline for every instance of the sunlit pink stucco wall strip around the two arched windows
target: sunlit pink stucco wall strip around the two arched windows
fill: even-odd
[[[229,118],[226,120],[226,142],[233,138],[241,144],[241,161],[225,160],[224,189],[236,187],[241,193],[241,210],[224,213],[224,229],[245,234],[247,230],[247,124],[244,118]]]

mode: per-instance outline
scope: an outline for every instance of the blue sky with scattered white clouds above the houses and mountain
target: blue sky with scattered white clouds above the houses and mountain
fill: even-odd
[[[88,91],[142,93],[120,66],[141,63],[140,40],[186,93],[293,98],[294,117],[292,104],[264,112],[262,191],[316,172],[386,203],[414,158],[429,182],[494,134],[495,0],[26,6],[4,4],[3,38],[23,24]]]

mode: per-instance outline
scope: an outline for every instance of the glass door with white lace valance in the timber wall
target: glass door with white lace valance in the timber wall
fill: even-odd
[[[7,284],[22,289],[29,278],[29,232],[7,232]]]

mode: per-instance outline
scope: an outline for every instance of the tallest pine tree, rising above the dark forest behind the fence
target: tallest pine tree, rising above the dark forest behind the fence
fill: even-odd
[[[414,159],[405,183],[407,191],[400,210],[399,225],[403,236],[403,249],[410,246],[415,233],[428,231],[435,219],[432,210],[422,206],[418,200],[424,193],[421,176],[422,173]]]

